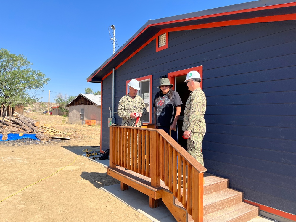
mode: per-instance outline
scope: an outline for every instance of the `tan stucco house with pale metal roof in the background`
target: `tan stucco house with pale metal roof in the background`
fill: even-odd
[[[69,107],[69,123],[85,124],[85,120],[96,120],[96,125],[101,124],[101,95],[81,93],[66,107]]]

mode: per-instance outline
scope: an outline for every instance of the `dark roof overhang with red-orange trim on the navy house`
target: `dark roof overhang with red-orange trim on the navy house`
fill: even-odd
[[[218,27],[236,25],[239,20],[256,23],[273,21],[272,18],[281,16],[281,20],[296,19],[296,1],[288,0],[260,0],[226,7],[192,12],[183,15],[149,20],[142,26],[123,46],[97,68],[86,80],[93,83],[101,83],[105,76],[112,73],[113,68],[120,66],[126,59],[131,57],[147,41],[154,38],[157,33],[164,29],[176,29],[187,27],[196,29],[206,27],[205,24],[215,24]],[[285,16],[290,15],[290,16]],[[260,19],[261,18],[261,19]],[[265,19],[262,19],[265,18]],[[270,19],[269,19],[270,18]],[[244,23],[239,23],[244,24]],[[208,26],[212,27],[212,26]]]

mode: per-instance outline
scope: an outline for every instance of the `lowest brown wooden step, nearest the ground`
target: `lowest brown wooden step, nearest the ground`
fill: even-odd
[[[258,215],[258,207],[241,202],[205,215],[204,222],[247,222]]]

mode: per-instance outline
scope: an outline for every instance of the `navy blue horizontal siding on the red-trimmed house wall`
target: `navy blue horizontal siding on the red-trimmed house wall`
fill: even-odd
[[[229,178],[248,200],[296,214],[296,21],[168,36],[168,49],[155,52],[153,40],[115,71],[115,111],[126,80],[153,75],[153,99],[161,75],[202,65],[208,172]],[[102,87],[102,149],[107,149],[112,75]]]

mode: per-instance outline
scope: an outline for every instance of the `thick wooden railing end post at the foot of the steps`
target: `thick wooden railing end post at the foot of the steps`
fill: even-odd
[[[192,177],[192,184],[198,184],[192,186],[192,218],[194,221],[203,222],[203,173],[194,169]]]

